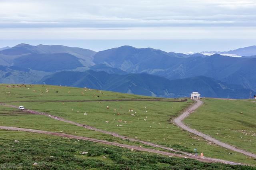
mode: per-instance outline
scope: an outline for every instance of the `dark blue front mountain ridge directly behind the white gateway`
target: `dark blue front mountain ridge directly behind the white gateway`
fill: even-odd
[[[90,87],[159,97],[188,97],[192,91],[200,91],[207,97],[247,98],[251,91],[244,89],[241,85],[230,85],[204,76],[169,80],[146,73],[118,75],[92,70],[85,72],[61,71],[44,77],[38,83]]]

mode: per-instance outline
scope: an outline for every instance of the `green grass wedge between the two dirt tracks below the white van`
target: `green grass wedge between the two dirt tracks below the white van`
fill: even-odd
[[[0,106],[0,126],[31,128],[37,130],[46,130],[52,132],[64,132],[76,136],[86,136],[90,138],[98,138],[108,141],[117,141],[119,143],[127,143],[127,140],[115,138],[114,136],[78,127],[62,121],[51,119],[44,115],[32,115],[17,111],[14,108]],[[130,142],[130,141],[129,141]],[[136,145],[136,143],[131,142]]]

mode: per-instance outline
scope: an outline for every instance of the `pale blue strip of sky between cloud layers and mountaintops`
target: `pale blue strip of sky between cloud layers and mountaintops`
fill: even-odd
[[[65,45],[93,51],[102,51],[123,45],[136,48],[151,47],[166,52],[189,53],[202,51],[229,51],[256,45],[256,40],[0,40],[0,48],[20,43],[30,45]]]

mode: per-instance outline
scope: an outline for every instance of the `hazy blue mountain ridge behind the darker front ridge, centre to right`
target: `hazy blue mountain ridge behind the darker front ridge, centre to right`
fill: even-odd
[[[104,63],[128,73],[149,73],[170,80],[204,75],[230,84],[256,90],[256,58],[211,56],[180,57],[152,48],[130,46],[99,51],[94,63]]]

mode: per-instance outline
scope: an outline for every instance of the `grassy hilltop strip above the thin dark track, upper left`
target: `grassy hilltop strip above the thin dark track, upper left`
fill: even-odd
[[[79,100],[105,100],[105,99],[147,99],[148,96],[131,95],[125,93],[115,93],[110,91],[99,91],[92,89],[82,89],[63,86],[49,85],[8,85],[0,84],[1,96],[6,96],[1,101],[79,101]],[[48,93],[46,93],[48,89]],[[34,92],[34,90],[36,92]],[[58,93],[56,93],[58,91]],[[68,93],[70,92],[70,93]],[[102,92],[102,93],[100,93]],[[99,97],[98,97],[99,96]]]

